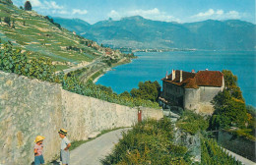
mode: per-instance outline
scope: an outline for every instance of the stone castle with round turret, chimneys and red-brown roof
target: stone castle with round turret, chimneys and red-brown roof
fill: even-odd
[[[163,98],[168,104],[197,113],[212,114],[211,101],[224,90],[224,74],[220,71],[199,71],[195,73],[172,70],[162,81]]]

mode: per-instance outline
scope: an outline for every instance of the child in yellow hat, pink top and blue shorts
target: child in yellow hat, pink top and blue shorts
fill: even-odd
[[[42,141],[44,137],[42,136],[37,136],[34,140],[35,144],[33,147],[33,152],[34,152],[34,165],[40,165],[44,163],[44,159],[42,156]]]

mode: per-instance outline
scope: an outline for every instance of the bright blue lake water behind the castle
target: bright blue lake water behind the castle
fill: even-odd
[[[238,78],[246,104],[256,107],[256,54],[255,51],[193,51],[193,52],[137,52],[132,63],[117,66],[96,83],[111,86],[121,93],[137,88],[139,82],[158,81],[166,71],[196,72],[230,70]]]

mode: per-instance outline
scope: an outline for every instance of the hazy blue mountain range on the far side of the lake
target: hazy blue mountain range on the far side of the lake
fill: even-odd
[[[56,22],[62,24],[63,21],[58,18]],[[71,22],[72,26],[62,26],[113,47],[254,50],[256,46],[255,25],[239,20],[177,24],[134,16],[95,25],[80,20],[75,26],[74,21]]]

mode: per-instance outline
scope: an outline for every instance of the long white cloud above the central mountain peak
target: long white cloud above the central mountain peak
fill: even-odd
[[[180,22],[179,19],[167,15],[165,12],[161,12],[158,8],[150,9],[150,10],[132,10],[126,12],[117,12],[115,10],[111,10],[107,15],[108,17],[119,20],[124,17],[131,16],[142,16],[145,19],[155,20],[155,21],[163,21],[163,22]]]

